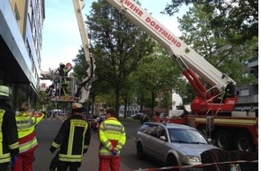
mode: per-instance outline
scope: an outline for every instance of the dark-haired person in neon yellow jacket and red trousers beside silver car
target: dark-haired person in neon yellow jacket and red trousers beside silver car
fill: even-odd
[[[106,119],[99,126],[99,171],[121,170],[121,148],[126,142],[124,126],[116,119],[117,112],[113,108],[105,110]]]

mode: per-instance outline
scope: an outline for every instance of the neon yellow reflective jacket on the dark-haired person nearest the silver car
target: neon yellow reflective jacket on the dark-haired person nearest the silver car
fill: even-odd
[[[120,151],[126,142],[124,126],[114,117],[104,120],[99,127],[99,138],[101,141],[100,157],[120,157]],[[118,151],[117,155],[112,154],[112,149]]]

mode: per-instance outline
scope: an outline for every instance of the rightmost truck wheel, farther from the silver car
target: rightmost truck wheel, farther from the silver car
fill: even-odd
[[[246,151],[249,148],[253,148],[253,139],[247,132],[240,132],[236,136],[236,148],[240,151]]]

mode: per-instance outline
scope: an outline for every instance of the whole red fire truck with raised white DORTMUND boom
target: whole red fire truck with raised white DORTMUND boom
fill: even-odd
[[[256,113],[235,111],[236,82],[232,78],[213,67],[133,0],[107,2],[167,50],[198,94],[191,103],[192,113],[179,118],[158,118],[157,121],[190,125],[213,139],[216,146],[227,150],[257,149]]]

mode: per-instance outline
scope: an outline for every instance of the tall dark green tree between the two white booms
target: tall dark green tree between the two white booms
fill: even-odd
[[[126,86],[128,76],[139,66],[140,60],[151,53],[154,43],[147,33],[140,31],[105,0],[92,4],[86,23],[93,40],[95,73],[99,81],[112,87],[118,110],[122,87]]]

